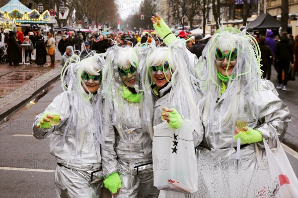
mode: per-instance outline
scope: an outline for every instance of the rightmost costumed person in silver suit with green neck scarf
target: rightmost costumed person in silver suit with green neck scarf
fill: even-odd
[[[222,25],[200,58],[197,72],[204,97],[199,105],[205,134],[198,160],[210,197],[236,195],[224,194],[224,185],[217,185],[223,183],[223,176],[218,175],[221,172],[213,175],[209,169],[216,163],[231,167],[234,160],[237,165],[245,162],[245,169],[238,169],[238,175],[242,173],[243,177],[234,175],[242,186],[233,192],[237,196],[270,197],[278,191],[277,183],[258,165],[266,159],[263,140],[270,148],[276,148],[291,117],[272,82],[261,79],[260,57],[259,46],[246,29]],[[244,115],[243,120],[238,120],[239,114]],[[239,121],[244,122],[242,126]],[[267,188],[261,191],[262,186]]]

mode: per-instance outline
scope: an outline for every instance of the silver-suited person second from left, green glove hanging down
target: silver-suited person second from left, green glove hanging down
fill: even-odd
[[[142,118],[144,96],[135,89],[138,50],[130,46],[110,48],[103,72],[107,83],[101,108],[104,186],[119,198],[157,198],[159,194],[153,186],[149,124]]]

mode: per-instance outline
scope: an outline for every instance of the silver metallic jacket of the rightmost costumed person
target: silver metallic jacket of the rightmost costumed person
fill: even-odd
[[[261,132],[263,139],[267,140],[271,148],[276,148],[276,138],[282,139],[287,131],[288,122],[291,121],[291,115],[289,112],[288,106],[278,98],[278,93],[276,92],[274,85],[270,81],[264,81],[262,85],[262,90],[259,91],[260,99],[254,101],[259,109],[259,120],[257,126],[254,129],[257,129]],[[215,118],[214,120],[220,120],[220,109],[223,107],[223,101],[226,97],[229,97],[223,94],[223,96],[218,100],[218,103],[215,106]],[[215,102],[215,101],[214,101]],[[248,104],[244,104],[244,107],[247,107]],[[203,107],[204,108],[204,107]],[[252,116],[247,116],[247,126],[251,126],[255,120]],[[232,135],[233,135],[233,122],[225,123],[210,123],[210,121],[202,121],[204,125],[209,124],[213,125],[211,132],[208,137],[204,138],[204,144],[208,147],[217,150],[231,147]],[[226,124],[226,126],[224,125]],[[264,148],[262,142],[257,144],[261,148]],[[254,144],[250,144],[243,149],[254,149]],[[241,155],[241,158],[251,158],[252,156]]]

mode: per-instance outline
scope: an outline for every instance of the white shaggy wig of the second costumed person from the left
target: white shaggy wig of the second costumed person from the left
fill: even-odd
[[[103,70],[103,102],[101,102],[101,108],[103,111],[104,120],[112,120],[112,124],[116,124],[120,120],[121,116],[124,114],[124,103],[126,102],[122,96],[122,89],[125,84],[122,82],[118,67],[122,68],[128,64],[133,65],[137,68],[136,74],[136,88],[139,87],[139,56],[142,49],[140,46],[135,47],[119,47],[113,46],[107,50],[105,55],[106,67]],[[139,92],[139,90],[138,90]],[[143,98],[143,97],[142,97]],[[142,99],[143,101],[143,99]],[[119,122],[118,122],[119,123]],[[108,127],[108,126],[107,126]],[[109,129],[105,129],[109,130]],[[120,134],[121,135],[121,134]]]

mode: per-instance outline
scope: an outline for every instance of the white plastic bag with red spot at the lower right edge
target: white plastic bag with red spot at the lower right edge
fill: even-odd
[[[276,197],[298,198],[298,180],[280,141],[277,140],[275,152],[272,152],[265,140],[263,142],[270,173],[279,181],[280,189]]]

